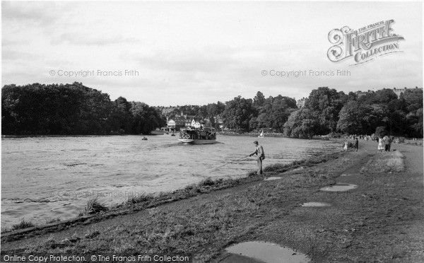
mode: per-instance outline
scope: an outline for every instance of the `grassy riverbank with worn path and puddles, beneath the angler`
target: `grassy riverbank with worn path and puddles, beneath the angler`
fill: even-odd
[[[281,180],[255,178],[52,232],[2,235],[1,252],[187,253],[195,262],[225,262],[232,257],[225,247],[261,240],[304,252],[314,262],[420,262],[424,260],[423,148],[401,144],[392,148],[404,156],[406,168],[400,172],[362,169],[393,152],[379,155],[375,143],[360,141],[358,152],[341,153],[309,167],[265,172],[265,177]],[[358,187],[349,192],[319,191],[336,182]],[[331,206],[302,207],[307,201]]]

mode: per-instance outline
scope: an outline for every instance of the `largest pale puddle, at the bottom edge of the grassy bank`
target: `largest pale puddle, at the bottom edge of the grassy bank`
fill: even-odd
[[[279,245],[252,241],[243,242],[227,248],[227,251],[237,255],[252,257],[264,263],[301,263],[310,262],[310,258],[306,255],[295,252],[288,247],[280,247]]]

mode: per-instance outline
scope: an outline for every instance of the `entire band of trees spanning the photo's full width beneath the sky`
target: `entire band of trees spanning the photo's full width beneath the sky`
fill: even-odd
[[[82,83],[7,85],[1,93],[3,134],[149,134],[166,126],[163,107],[128,102],[83,86]],[[312,90],[303,107],[282,95],[265,98],[237,96],[226,103],[177,106],[167,117],[208,118],[213,126],[239,132],[261,128],[285,136],[311,138],[331,133],[381,133],[423,137],[423,90],[391,89],[365,95],[345,94],[328,87]]]

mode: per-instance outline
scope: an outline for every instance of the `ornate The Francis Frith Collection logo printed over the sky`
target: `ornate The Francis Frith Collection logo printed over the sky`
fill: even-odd
[[[393,33],[394,20],[379,21],[358,30],[348,26],[331,30],[329,42],[334,44],[327,52],[331,62],[353,58],[354,64],[369,62],[384,54],[400,52],[399,40],[404,37]]]

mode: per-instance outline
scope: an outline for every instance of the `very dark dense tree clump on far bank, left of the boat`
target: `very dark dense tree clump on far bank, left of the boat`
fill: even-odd
[[[1,90],[2,134],[149,134],[163,127],[160,112],[144,103],[109,95],[82,83],[26,86]]]

